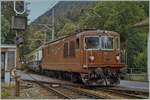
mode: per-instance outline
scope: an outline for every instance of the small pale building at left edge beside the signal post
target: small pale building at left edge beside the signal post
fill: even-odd
[[[1,81],[9,83],[11,76],[10,70],[16,67],[17,46],[16,45],[0,45],[1,48]]]

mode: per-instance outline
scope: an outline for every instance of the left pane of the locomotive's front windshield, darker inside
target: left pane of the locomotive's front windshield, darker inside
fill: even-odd
[[[86,37],[85,48],[86,49],[99,49],[100,48],[99,37]]]

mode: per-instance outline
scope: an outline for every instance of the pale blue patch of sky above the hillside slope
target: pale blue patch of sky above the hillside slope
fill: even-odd
[[[52,8],[58,0],[29,0],[29,2],[28,8],[30,9],[30,13],[28,19],[30,23]]]

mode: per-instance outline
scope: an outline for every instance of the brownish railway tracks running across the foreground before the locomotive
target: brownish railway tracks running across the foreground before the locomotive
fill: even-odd
[[[49,92],[55,93],[61,99],[147,99],[148,93],[137,91],[128,91],[125,89],[113,87],[83,87],[81,85],[68,85],[60,82],[41,82],[28,74],[33,80]],[[54,85],[54,86],[53,86]],[[55,86],[56,85],[56,86]]]

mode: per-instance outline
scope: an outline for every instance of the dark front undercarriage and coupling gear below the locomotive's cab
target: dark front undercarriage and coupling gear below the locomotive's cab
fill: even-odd
[[[97,68],[88,75],[81,75],[84,85],[113,86],[119,82],[118,74],[114,70]]]

